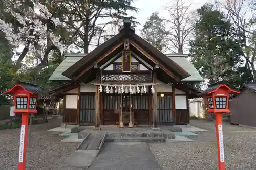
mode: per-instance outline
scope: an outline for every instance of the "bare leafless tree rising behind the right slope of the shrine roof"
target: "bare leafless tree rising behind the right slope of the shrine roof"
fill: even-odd
[[[189,11],[191,5],[192,3],[187,6],[182,0],[175,0],[173,5],[165,7],[169,13],[169,18],[165,18],[167,27],[169,27],[167,36],[170,41],[169,50],[174,53],[184,52],[184,47],[189,42],[189,35],[194,29],[193,13]]]

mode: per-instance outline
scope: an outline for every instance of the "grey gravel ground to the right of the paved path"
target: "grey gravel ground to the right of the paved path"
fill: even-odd
[[[198,136],[191,138],[193,142],[150,144],[160,169],[218,169],[214,123],[191,120],[191,124],[208,131],[198,132]],[[223,136],[226,169],[256,169],[256,129],[224,123]]]

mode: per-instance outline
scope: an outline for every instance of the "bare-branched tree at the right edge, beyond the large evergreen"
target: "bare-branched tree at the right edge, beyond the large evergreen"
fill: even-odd
[[[247,0],[226,0],[225,9],[228,17],[237,27],[236,37],[239,39],[241,55],[245,59],[245,66],[253,73],[253,79],[256,81],[256,70],[254,62],[256,61],[256,46],[255,46],[255,22],[252,15],[254,9],[250,1]]]

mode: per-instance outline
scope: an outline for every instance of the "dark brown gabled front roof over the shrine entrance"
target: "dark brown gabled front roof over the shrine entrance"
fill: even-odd
[[[83,57],[78,62],[73,64],[71,67],[65,70],[62,75],[72,79],[77,77],[77,75],[81,72],[87,72],[89,69],[91,69],[89,67],[91,64],[97,63],[97,60],[101,57],[101,55],[108,52],[113,46],[117,45],[118,43],[122,43],[124,37],[131,38],[131,40],[143,48],[143,50],[152,55],[152,57],[154,57],[159,64],[166,67],[169,71],[174,72],[174,74],[177,76],[176,79],[182,80],[190,76],[187,71],[185,71],[174,61],[169,60],[169,58],[157,50],[157,48],[153,47],[150,43],[136,35],[134,33],[134,29],[131,29],[130,22],[124,22],[123,29],[121,29],[117,35],[95,48],[92,52],[87,54],[87,57]],[[86,68],[86,70],[84,68]]]

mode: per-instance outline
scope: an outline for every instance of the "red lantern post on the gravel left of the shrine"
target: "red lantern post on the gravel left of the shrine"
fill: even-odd
[[[22,114],[22,125],[20,127],[18,170],[25,170],[26,151],[28,137],[29,114],[37,113],[36,105],[40,89],[35,84],[18,82],[15,86],[2,94],[14,95],[15,114]]]

